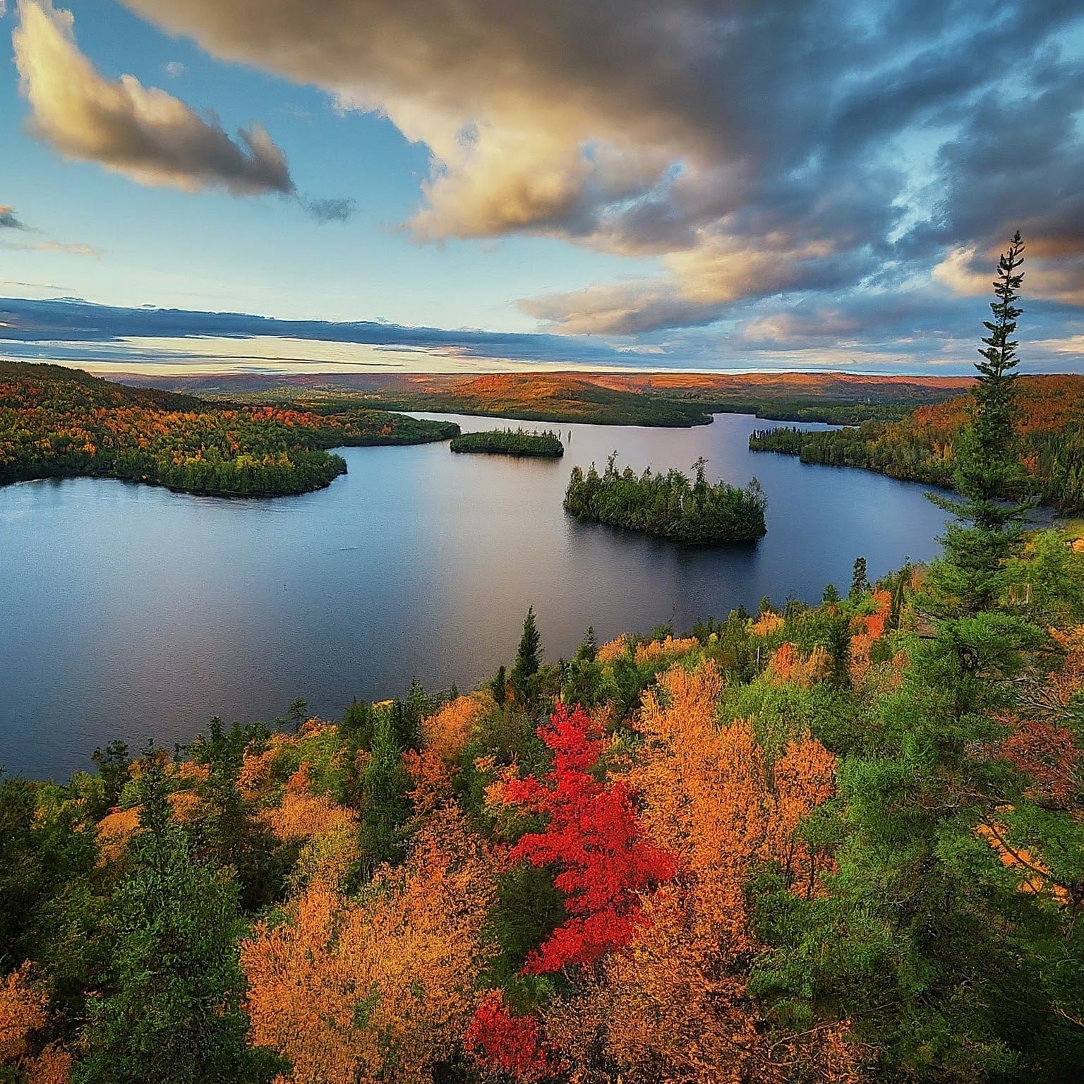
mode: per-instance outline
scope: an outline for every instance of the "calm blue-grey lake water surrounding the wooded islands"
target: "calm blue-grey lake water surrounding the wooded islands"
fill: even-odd
[[[267,501],[94,479],[0,489],[0,764],[61,778],[114,737],[170,746],[212,714],[270,720],[304,697],[337,718],[412,675],[468,688],[511,661],[530,605],[557,659],[589,624],[599,640],[682,631],[765,594],[846,591],[860,554],[873,578],[937,552],[944,514],[921,486],[750,453],[769,424],[564,425],[556,462],[351,448],[330,489]],[[562,509],[572,465],[615,449],[637,470],[704,455],[712,480],[756,475],[766,537],[696,550],[577,524]]]

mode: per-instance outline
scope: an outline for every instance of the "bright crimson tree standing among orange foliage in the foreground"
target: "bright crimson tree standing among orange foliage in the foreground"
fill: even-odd
[[[640,893],[676,872],[673,855],[646,838],[629,786],[591,774],[605,739],[586,712],[558,705],[538,733],[553,750],[553,767],[541,780],[509,780],[503,797],[549,823],[522,836],[508,857],[552,863],[569,918],[528,957],[524,970],[533,975],[594,964],[628,944],[642,918]]]

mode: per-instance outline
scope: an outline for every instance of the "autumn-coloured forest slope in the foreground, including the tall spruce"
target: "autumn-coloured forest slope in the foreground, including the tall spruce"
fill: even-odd
[[[467,695],[0,783],[0,1080],[1079,1081],[1084,546],[1009,499],[1021,250],[929,567],[556,662],[530,609]]]

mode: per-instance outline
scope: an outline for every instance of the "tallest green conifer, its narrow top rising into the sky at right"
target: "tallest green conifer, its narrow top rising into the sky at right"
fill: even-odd
[[[1068,944],[1050,947],[1063,930],[1057,911],[1020,891],[979,831],[1009,812],[1042,815],[1027,778],[982,752],[1005,737],[1017,679],[1046,641],[1001,588],[1027,508],[1004,501],[1020,477],[1011,335],[1021,250],[1017,234],[999,262],[971,431],[957,447],[960,500],[937,500],[957,522],[916,598],[925,620],[906,641],[902,687],[880,701],[869,745],[840,765],[839,872],[824,904],[776,898],[777,935],[798,940],[758,977],[761,992],[797,995],[788,1011],[809,990],[822,1007],[844,1004],[893,1080],[1075,1080],[1084,1050],[1079,1018],[1053,1007],[1057,983],[1079,975]],[[1033,966],[1050,953],[1066,960],[1054,981]]]

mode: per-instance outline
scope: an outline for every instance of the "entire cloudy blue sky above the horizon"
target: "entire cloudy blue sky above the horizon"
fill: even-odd
[[[0,0],[0,357],[949,375],[1019,229],[1023,367],[1084,372],[1079,2]]]

